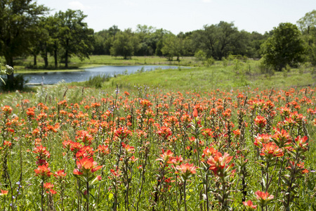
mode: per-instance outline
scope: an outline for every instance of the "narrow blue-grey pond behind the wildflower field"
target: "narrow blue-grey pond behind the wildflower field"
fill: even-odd
[[[139,71],[150,71],[157,69],[176,69],[178,66],[157,66],[157,65],[136,65],[136,66],[102,66],[98,68],[86,68],[83,71],[74,72],[41,72],[41,73],[25,73],[22,74],[28,79],[28,84],[57,84],[62,80],[66,83],[84,82],[89,77],[96,75],[109,75],[113,77],[119,74],[131,74]]]

